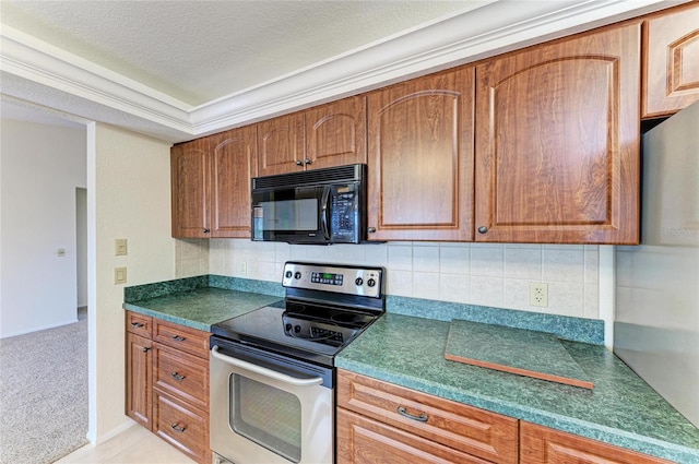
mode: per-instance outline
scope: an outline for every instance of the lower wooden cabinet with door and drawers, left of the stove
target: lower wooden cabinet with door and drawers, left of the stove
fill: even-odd
[[[127,311],[126,413],[209,464],[209,332]]]

